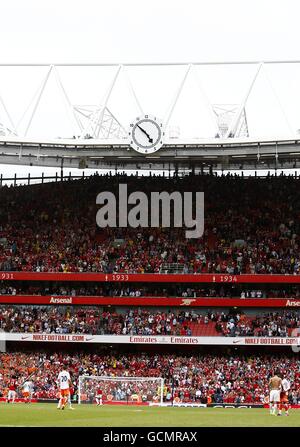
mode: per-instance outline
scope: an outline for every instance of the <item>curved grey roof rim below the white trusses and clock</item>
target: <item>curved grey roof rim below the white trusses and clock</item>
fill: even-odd
[[[176,142],[145,156],[117,140],[108,143],[7,138],[0,142],[0,160],[14,165],[82,169],[298,169],[300,139]]]

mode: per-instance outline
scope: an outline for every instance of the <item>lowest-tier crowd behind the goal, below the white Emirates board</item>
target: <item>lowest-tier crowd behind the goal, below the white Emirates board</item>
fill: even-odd
[[[21,384],[30,375],[33,397],[57,398],[61,365],[71,373],[75,395],[80,375],[153,376],[165,379],[165,400],[202,403],[264,403],[269,378],[279,370],[291,381],[290,402],[300,403],[300,360],[286,355],[0,353],[0,397],[12,377]]]

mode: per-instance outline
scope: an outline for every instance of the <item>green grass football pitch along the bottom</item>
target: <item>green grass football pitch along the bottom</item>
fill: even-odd
[[[0,404],[0,427],[300,427],[300,410],[271,416],[267,409]]]

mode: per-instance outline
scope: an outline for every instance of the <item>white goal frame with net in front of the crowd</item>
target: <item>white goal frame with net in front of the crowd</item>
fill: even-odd
[[[94,403],[98,390],[106,403],[148,403],[162,405],[164,379],[162,377],[80,376],[78,404]]]

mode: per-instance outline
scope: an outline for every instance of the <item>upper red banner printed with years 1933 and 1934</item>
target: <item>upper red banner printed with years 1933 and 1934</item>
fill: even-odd
[[[0,272],[0,281],[171,282],[171,283],[282,283],[300,284],[300,275],[221,275],[160,273],[37,273]]]

